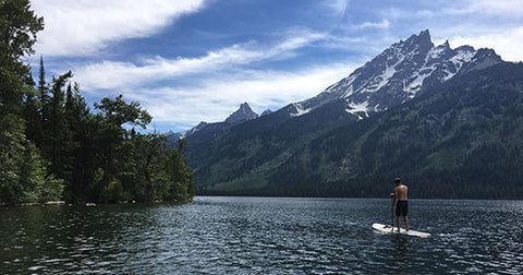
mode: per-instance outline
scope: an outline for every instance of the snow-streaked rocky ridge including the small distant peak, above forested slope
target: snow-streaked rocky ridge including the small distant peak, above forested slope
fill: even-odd
[[[452,49],[448,41],[435,46],[426,29],[392,44],[315,97],[290,104],[275,112],[266,111],[260,117],[245,103],[223,122],[202,122],[188,131],[168,135],[168,140],[191,136],[190,142],[205,142],[226,133],[233,125],[255,119],[262,120],[257,129],[270,128],[309,112],[315,112],[312,115],[320,121],[328,119],[324,117],[326,113],[337,113],[332,108],[364,119],[401,105],[455,75],[500,62],[503,61],[491,49],[476,50],[471,46]]]

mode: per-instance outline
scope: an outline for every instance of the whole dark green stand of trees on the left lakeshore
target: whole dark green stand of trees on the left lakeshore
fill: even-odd
[[[0,203],[186,201],[194,196],[185,144],[139,133],[151,121],[136,101],[87,106],[72,72],[37,81],[34,53],[44,17],[28,0],[0,1]]]

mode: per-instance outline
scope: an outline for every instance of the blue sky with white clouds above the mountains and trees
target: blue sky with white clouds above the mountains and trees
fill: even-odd
[[[321,93],[429,29],[436,45],[523,61],[522,0],[33,0],[44,16],[34,75],[68,71],[92,106],[120,94],[146,131],[223,121],[242,103],[277,110]],[[92,108],[93,109],[93,108]]]

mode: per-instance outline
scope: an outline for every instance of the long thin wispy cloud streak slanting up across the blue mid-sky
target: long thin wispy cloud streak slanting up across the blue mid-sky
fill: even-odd
[[[142,64],[102,61],[75,69],[76,81],[87,89],[138,86],[182,75],[212,73],[254,61],[280,59],[295,49],[323,39],[321,34],[302,32],[281,43],[263,48],[255,41],[210,51],[199,58],[147,59]]]

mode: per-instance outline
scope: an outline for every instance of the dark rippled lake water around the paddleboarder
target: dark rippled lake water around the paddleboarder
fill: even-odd
[[[197,196],[190,204],[0,208],[0,273],[523,273],[523,201]]]

